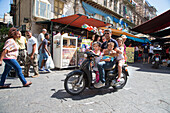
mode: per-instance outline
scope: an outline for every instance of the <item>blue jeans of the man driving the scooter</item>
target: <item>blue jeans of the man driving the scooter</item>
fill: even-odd
[[[112,68],[114,65],[114,62],[106,62],[106,61],[102,61],[99,62],[97,67],[99,70],[99,77],[100,77],[100,81],[101,82],[105,82],[105,69],[110,69]]]

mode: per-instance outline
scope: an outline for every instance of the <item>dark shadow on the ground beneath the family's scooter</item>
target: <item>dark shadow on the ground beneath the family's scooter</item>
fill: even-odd
[[[68,94],[64,89],[56,91],[55,89],[51,89],[55,93],[51,96],[51,98],[60,99],[61,101],[67,101],[67,98],[72,100],[82,100],[87,98],[95,97],[96,95],[104,95],[107,93],[114,93],[117,92],[116,89],[85,89],[81,94],[73,96]]]

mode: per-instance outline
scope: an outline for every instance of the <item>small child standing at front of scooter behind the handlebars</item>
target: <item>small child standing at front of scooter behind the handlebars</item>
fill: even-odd
[[[96,55],[99,55],[99,57],[95,57],[95,63],[94,63],[94,67],[93,67],[93,71],[96,73],[96,83],[99,82],[99,71],[98,71],[98,68],[97,68],[97,64],[100,62],[101,60],[101,57],[102,57],[102,53],[100,51],[101,49],[101,43],[96,41],[93,43],[93,52],[96,54]]]

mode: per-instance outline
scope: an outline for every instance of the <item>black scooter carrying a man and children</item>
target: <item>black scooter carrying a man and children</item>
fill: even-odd
[[[95,57],[99,57],[93,52],[86,52],[84,54],[86,59],[80,65],[78,70],[70,72],[64,81],[64,87],[67,93],[71,95],[78,95],[82,93],[85,88],[96,89],[94,87],[95,79],[92,76],[92,69],[90,63],[94,61]],[[115,89],[121,89],[127,82],[127,76],[129,76],[127,65],[122,67],[121,81],[116,82],[118,78],[118,67],[117,64],[111,69],[105,70],[105,86],[102,88],[109,88],[112,86]]]

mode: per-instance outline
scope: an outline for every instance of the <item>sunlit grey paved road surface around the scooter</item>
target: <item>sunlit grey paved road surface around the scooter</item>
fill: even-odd
[[[8,77],[6,83],[12,85],[0,89],[0,113],[170,113],[170,68],[135,63],[128,70],[123,89],[86,89],[79,96],[64,90],[65,76],[72,70],[26,78],[33,84],[24,88],[18,78]]]

